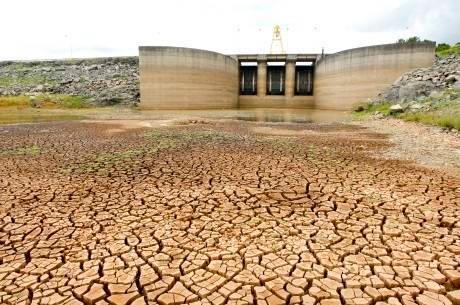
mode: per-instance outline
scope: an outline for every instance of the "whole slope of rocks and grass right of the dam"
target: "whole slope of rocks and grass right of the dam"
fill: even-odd
[[[460,56],[438,57],[428,68],[402,75],[370,103],[357,107],[358,117],[393,116],[442,127],[460,134]]]

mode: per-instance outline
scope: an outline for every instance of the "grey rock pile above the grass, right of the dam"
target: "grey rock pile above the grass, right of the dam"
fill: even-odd
[[[407,101],[429,96],[433,91],[447,88],[460,89],[460,56],[436,58],[433,66],[410,71],[375,99],[381,101]]]

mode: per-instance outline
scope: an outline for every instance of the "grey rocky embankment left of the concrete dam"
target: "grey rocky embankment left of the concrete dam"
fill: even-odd
[[[139,101],[137,57],[0,62],[0,95],[66,94],[96,105]]]

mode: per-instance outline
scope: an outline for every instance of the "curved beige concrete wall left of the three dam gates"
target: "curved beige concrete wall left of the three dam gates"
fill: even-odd
[[[141,109],[225,109],[238,106],[238,62],[215,52],[140,47]]]

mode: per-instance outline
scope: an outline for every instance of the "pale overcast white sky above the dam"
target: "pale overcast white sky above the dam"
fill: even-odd
[[[460,41],[460,0],[1,0],[0,59],[137,55],[139,45],[335,52],[420,36]]]

